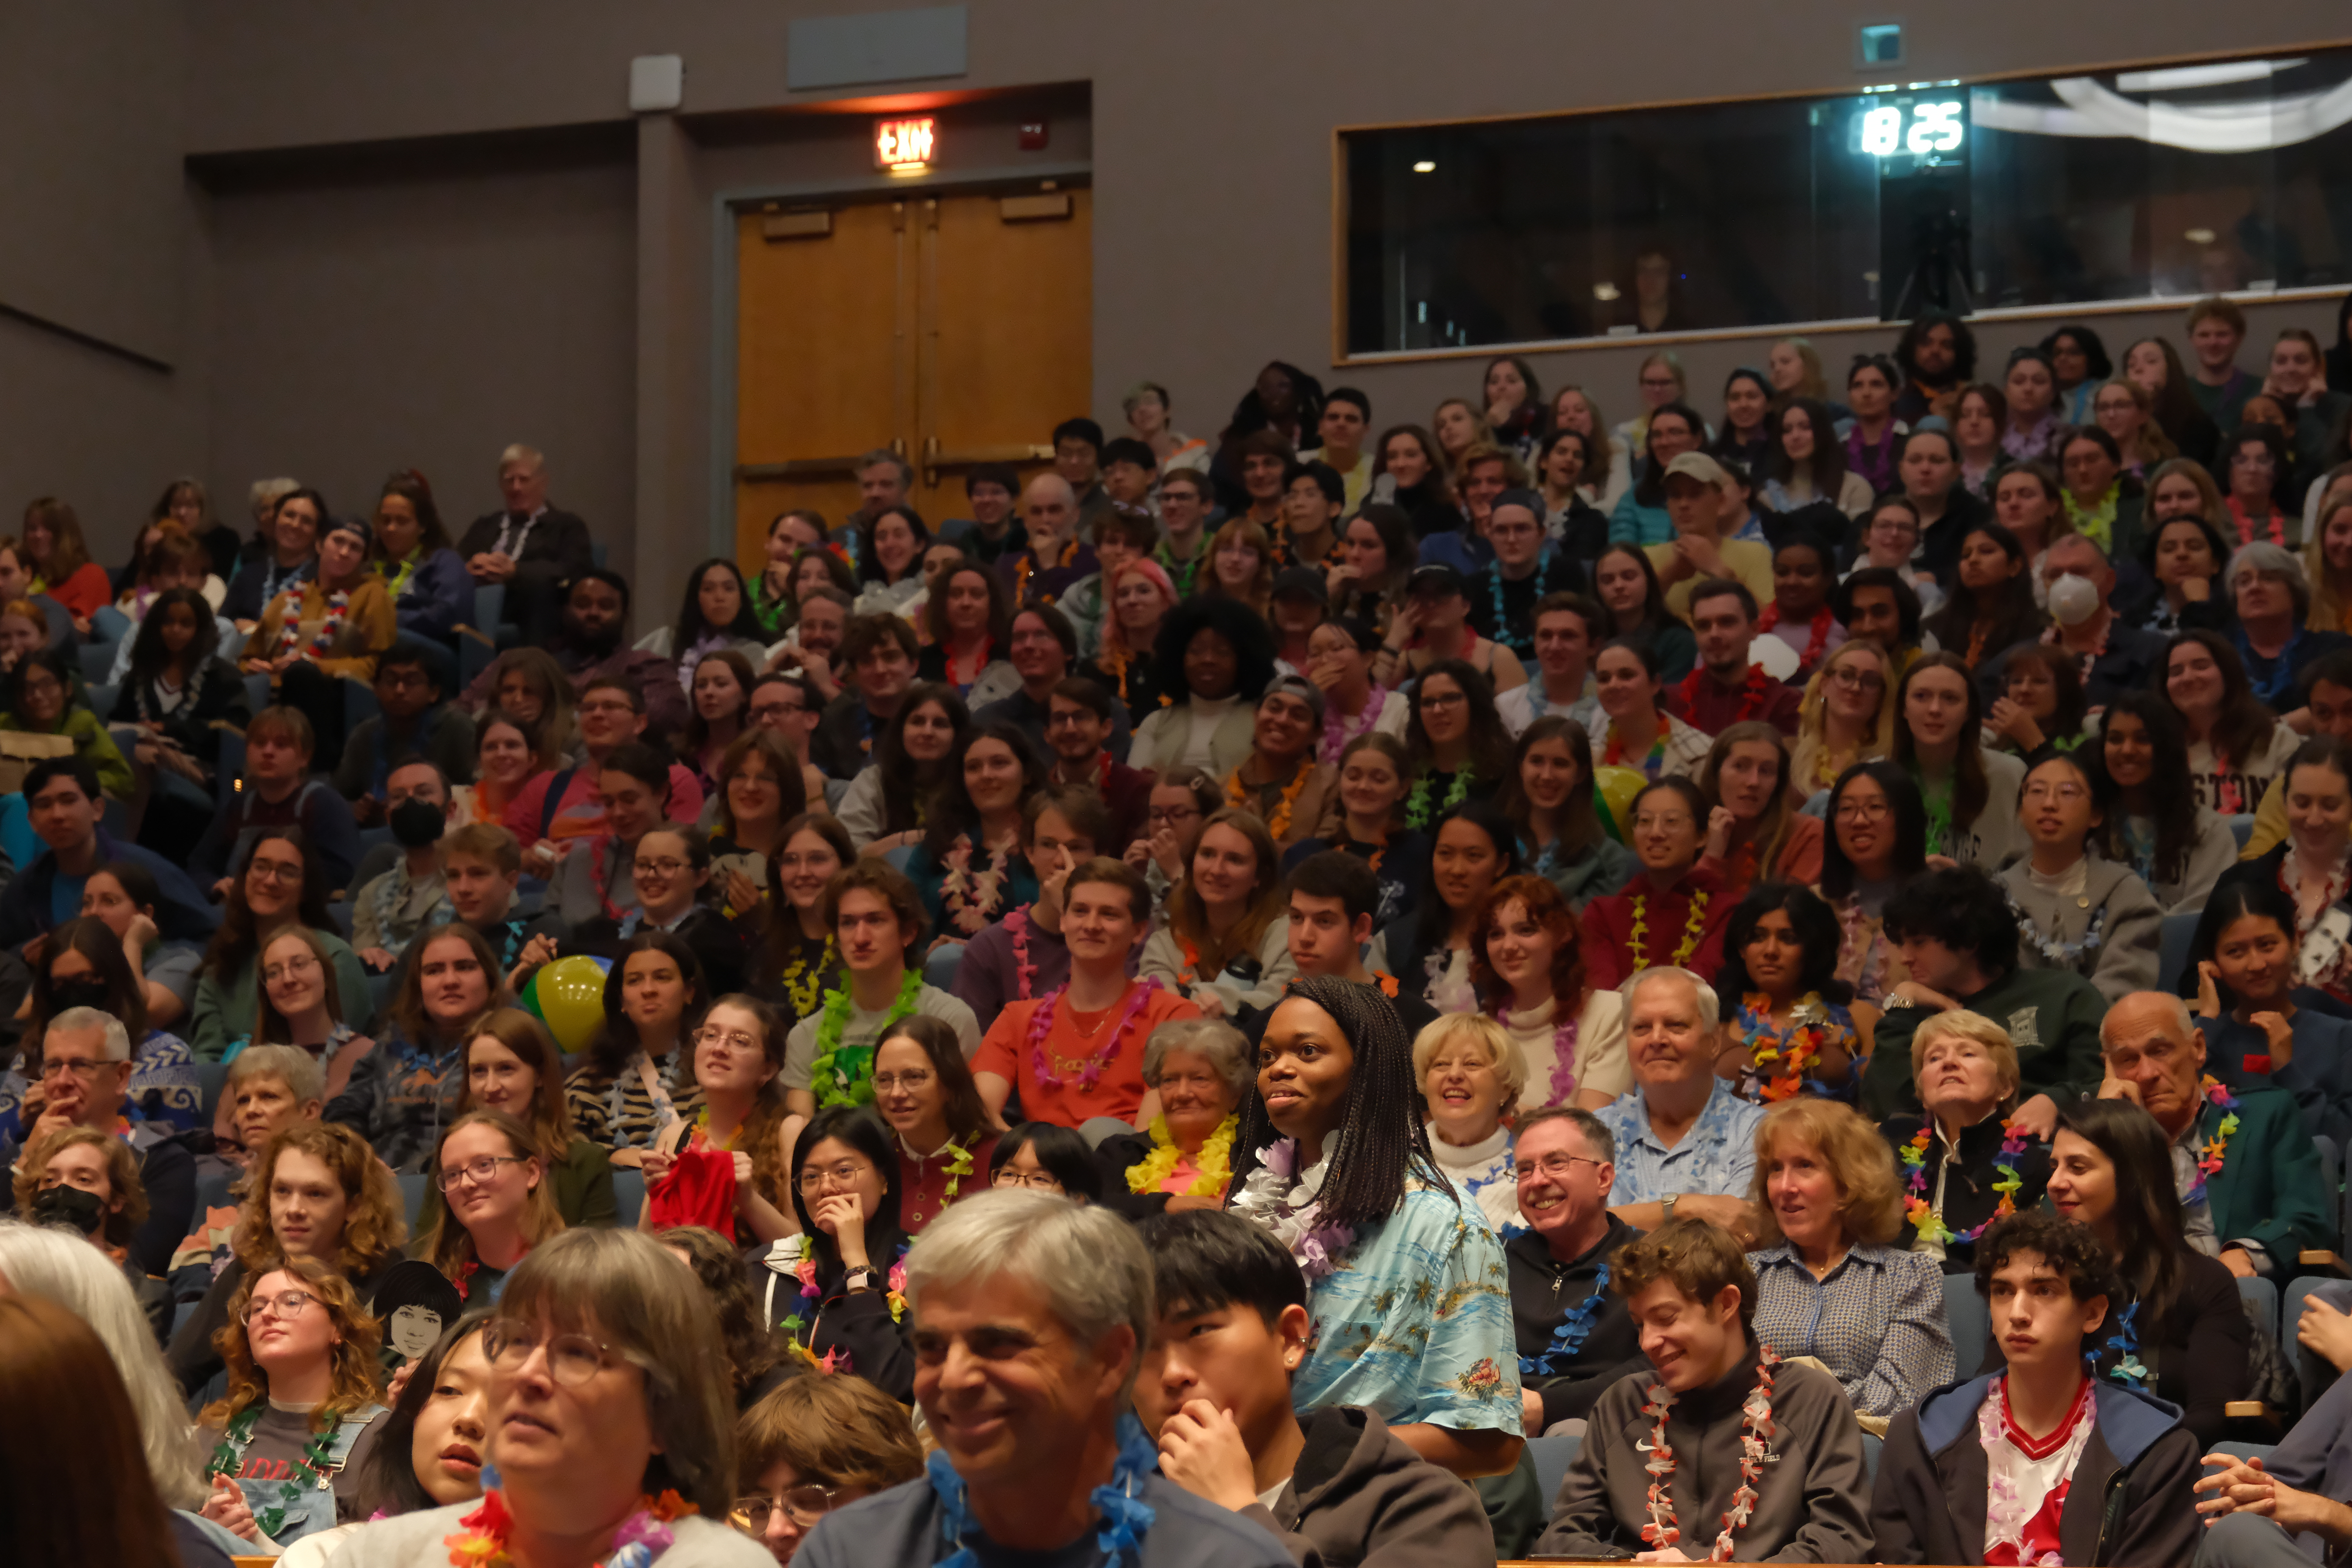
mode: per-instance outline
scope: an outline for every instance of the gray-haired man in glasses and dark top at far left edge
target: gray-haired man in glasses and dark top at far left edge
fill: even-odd
[[[139,1107],[129,1100],[129,1030],[113,1013],[71,1006],[49,1020],[40,1039],[38,1074],[24,1103],[31,1119],[24,1145],[0,1143],[0,1166],[14,1166],[24,1150],[56,1128],[118,1133],[139,1154],[139,1185],[148,1194],[148,1218],[132,1234],[129,1260],[148,1274],[162,1274],[195,1213],[195,1157],[169,1121],[139,1119]]]

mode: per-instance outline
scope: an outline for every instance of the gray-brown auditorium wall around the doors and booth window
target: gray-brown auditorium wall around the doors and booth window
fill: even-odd
[[[139,482],[106,482],[143,503],[191,461],[216,482],[294,465],[341,489],[416,461],[463,515],[487,498],[487,449],[534,433],[562,451],[564,494],[600,524],[612,517],[616,543],[637,508],[666,512],[654,522],[663,534],[687,529],[717,501],[713,315],[699,270],[713,240],[706,197],[743,165],[795,162],[811,127],[790,110],[849,96],[786,87],[790,19],[844,9],[891,7],[143,0],[134,14],[153,26],[139,59],[120,61],[87,47],[87,28],[101,24],[80,24],[85,33],[54,24],[66,26],[59,47],[38,66],[9,63],[0,87],[52,68],[103,113],[68,113],[71,136],[0,150],[0,193],[28,190],[35,216],[59,233],[56,254],[31,270],[26,247],[0,244],[0,306],[14,306],[31,277],[68,315],[99,322],[85,331],[169,341],[174,369],[141,383],[99,367],[99,350],[31,353],[0,322],[0,475],[16,491],[45,487],[42,473],[96,484],[111,451],[113,468],[139,470]],[[1383,418],[1425,414],[1477,376],[1477,362],[1331,369],[1336,125],[1851,89],[1860,19],[1844,0],[1762,9],[1693,0],[1672,12],[1174,0],[1148,16],[1077,0],[974,0],[969,73],[903,89],[1091,94],[1094,411],[1115,423],[1117,393],[1148,374],[1174,388],[1181,423],[1211,433],[1270,355],[1367,386]],[[1910,80],[2286,49],[2352,33],[2340,0],[2258,12],[1980,0],[1915,7],[1905,21]],[[181,63],[167,89],[143,85],[151,66],[139,61],[151,52]],[[687,59],[682,134],[630,132],[628,59],[668,52]],[[960,110],[943,113],[953,122]],[[139,134],[115,125],[125,118]],[[717,120],[727,134],[696,143],[696,127],[708,136]],[[595,125],[626,139],[609,160],[532,167],[506,141]],[[160,155],[165,143],[172,158]],[[386,143],[400,146],[388,160],[346,165],[341,153]],[[412,158],[412,143],[430,155]],[[329,153],[299,176],[254,174],[256,155],[292,148]],[[195,155],[212,186],[200,223],[181,212],[179,153]],[[80,202],[75,179],[56,169],[26,181],[26,160],[151,195]],[[186,233],[176,266],[151,256],[158,226]],[[273,230],[285,240],[270,244]],[[125,270],[120,299],[108,299],[118,282],[99,277],[103,268]],[[2284,306],[2256,315],[2265,336],[2279,320],[2324,320]],[[2161,317],[2117,320],[2112,331],[2133,336],[2143,320]],[[501,348],[494,322],[510,339],[520,331],[520,346]],[[1987,341],[2006,348],[2025,334],[1994,327]],[[1851,343],[1828,348],[1835,357]],[[1757,353],[1755,343],[1686,350],[1700,397]],[[1609,402],[1623,407],[1637,357],[1639,348],[1618,346],[1548,353],[1538,371],[1548,383],[1616,388]],[[515,360],[543,374],[508,378],[501,367]],[[19,367],[52,374],[28,388],[7,374]],[[64,397],[45,397],[47,388]],[[659,409],[640,407],[649,393]],[[56,435],[47,465],[33,430]],[[637,473],[640,454],[652,473]],[[663,576],[673,569],[663,564]],[[640,588],[668,597],[668,583]]]

